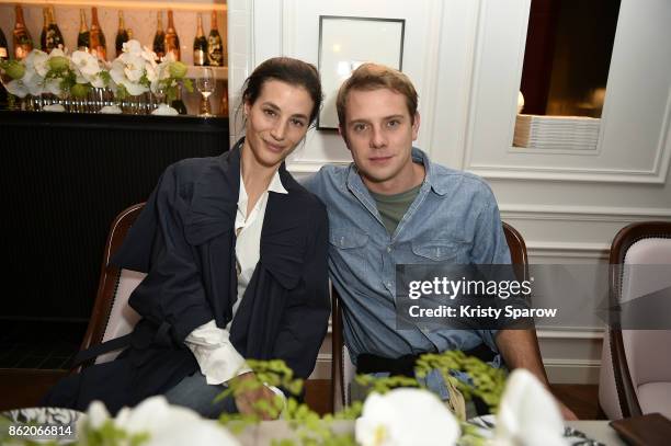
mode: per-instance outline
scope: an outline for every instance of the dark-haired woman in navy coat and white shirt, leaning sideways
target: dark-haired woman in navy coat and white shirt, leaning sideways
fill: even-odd
[[[120,267],[147,272],[129,305],[143,319],[112,363],[84,369],[47,397],[111,412],[152,394],[205,416],[254,412],[262,387],[213,404],[243,358],[280,358],[307,378],[330,313],[326,208],[286,171],[321,104],[316,68],[274,58],[247,79],[246,136],[218,158],[169,167],[123,247]],[[261,413],[261,415],[264,415]]]

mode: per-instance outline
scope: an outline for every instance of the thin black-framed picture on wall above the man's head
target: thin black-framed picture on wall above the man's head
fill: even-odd
[[[402,19],[319,16],[319,72],[325,101],[318,129],[338,129],[338,89],[360,65],[369,61],[402,69],[405,27]]]

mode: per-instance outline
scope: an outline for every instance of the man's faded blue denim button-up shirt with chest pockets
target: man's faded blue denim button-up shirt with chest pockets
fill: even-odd
[[[397,330],[396,264],[508,264],[499,209],[487,183],[432,163],[420,191],[389,236],[356,167],[325,165],[304,185],[329,214],[329,273],[343,301],[344,340],[352,359],[470,350],[485,342],[498,352],[493,330]]]

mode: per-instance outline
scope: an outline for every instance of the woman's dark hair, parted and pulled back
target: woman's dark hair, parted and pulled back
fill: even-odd
[[[273,57],[265,60],[244,81],[240,106],[244,103],[253,104],[261,94],[263,82],[268,80],[278,80],[291,85],[303,87],[315,103],[310,113],[310,124],[315,122],[321,107],[322,94],[319,71],[312,64],[291,57]]]

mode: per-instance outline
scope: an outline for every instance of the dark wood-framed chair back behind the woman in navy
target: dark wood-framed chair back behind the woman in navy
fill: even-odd
[[[141,282],[145,274],[120,270],[110,264],[110,259],[121,247],[128,229],[130,229],[144,206],[145,204],[140,203],[124,209],[112,222],[103,253],[95,304],[93,305],[93,311],[89,319],[81,350],[129,333],[139,320],[139,315],[127,304],[130,293]],[[106,353],[99,356],[95,361],[91,359],[83,363],[82,367],[111,361],[118,353]]]

